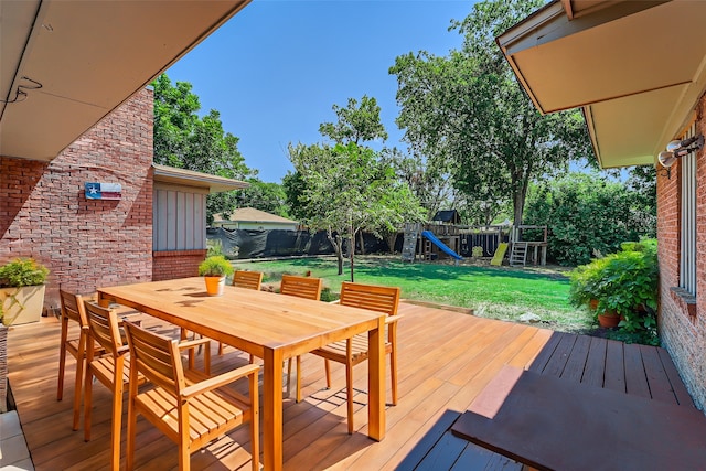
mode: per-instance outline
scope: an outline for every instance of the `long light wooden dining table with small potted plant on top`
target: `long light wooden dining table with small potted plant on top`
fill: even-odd
[[[263,452],[266,470],[282,467],[282,362],[329,343],[368,333],[368,437],[385,436],[385,315],[232,286],[206,295],[203,278],[98,289],[117,302],[264,360]]]

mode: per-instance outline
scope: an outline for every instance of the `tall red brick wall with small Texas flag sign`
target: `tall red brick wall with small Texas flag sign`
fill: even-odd
[[[152,277],[152,92],[143,89],[51,162],[0,158],[0,263],[34,257],[58,287]],[[38,136],[41,139],[41,136]],[[86,200],[85,182],[122,185],[119,201]]]

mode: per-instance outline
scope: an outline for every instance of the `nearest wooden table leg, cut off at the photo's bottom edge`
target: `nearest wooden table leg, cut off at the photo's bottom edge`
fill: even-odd
[[[263,378],[263,464],[282,469],[282,352],[265,347]]]

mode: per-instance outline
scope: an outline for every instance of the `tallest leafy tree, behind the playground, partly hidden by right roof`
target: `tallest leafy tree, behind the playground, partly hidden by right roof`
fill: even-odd
[[[396,58],[397,124],[413,152],[448,169],[470,204],[511,201],[522,223],[531,181],[565,172],[589,151],[576,110],[542,116],[495,44],[495,36],[543,4],[542,0],[475,3],[462,22],[460,51]],[[475,203],[473,203],[475,202]]]

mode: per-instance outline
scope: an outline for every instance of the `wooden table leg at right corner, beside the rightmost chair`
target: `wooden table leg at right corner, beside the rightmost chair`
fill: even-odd
[[[385,318],[367,333],[367,433],[373,440],[385,438]]]

